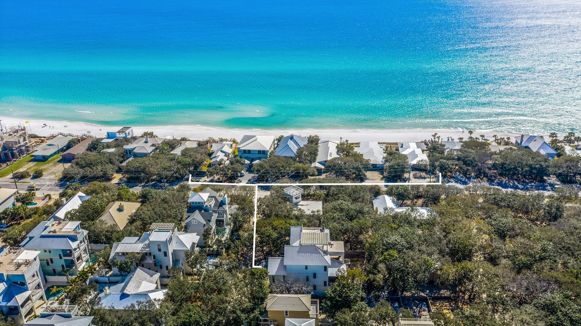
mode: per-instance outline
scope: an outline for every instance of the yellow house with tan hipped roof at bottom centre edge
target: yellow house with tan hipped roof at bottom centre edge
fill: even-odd
[[[271,294],[266,298],[266,313],[260,326],[318,326],[321,310],[319,300],[310,294]]]

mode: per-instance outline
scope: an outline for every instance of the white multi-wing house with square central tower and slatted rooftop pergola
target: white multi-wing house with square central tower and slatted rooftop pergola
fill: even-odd
[[[183,271],[190,271],[184,253],[196,249],[199,239],[196,233],[178,231],[173,223],[153,223],[149,232],[144,233],[141,238],[125,237],[121,242],[115,242],[109,260],[123,260],[130,252],[143,253],[145,260],[141,266],[160,273],[160,281],[167,284],[167,272],[171,267],[182,267]],[[113,267],[113,276],[120,275],[117,267]]]

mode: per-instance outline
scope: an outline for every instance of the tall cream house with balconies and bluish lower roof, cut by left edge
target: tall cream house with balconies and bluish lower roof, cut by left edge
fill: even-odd
[[[46,303],[39,254],[16,248],[0,250],[0,311],[17,324],[37,315],[38,306]]]

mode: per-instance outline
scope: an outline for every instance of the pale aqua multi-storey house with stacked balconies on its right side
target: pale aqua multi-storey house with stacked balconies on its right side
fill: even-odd
[[[49,219],[39,223],[20,244],[40,252],[42,274],[47,281],[69,281],[90,265],[88,231],[81,222]]]

